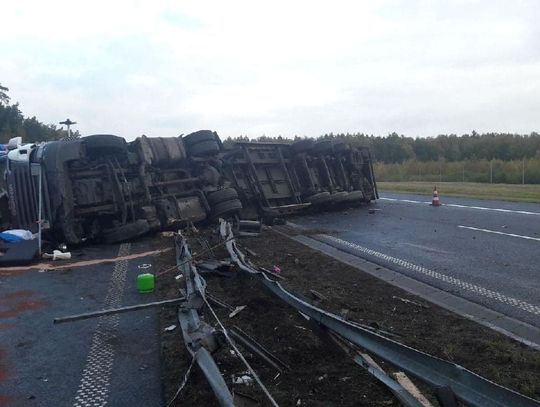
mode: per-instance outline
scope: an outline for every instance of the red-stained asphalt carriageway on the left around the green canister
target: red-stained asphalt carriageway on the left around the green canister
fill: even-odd
[[[139,241],[72,254],[83,261],[147,250]],[[152,301],[136,289],[139,266],[151,262],[0,269],[0,406],[162,405],[157,308],[53,325],[56,317]]]

